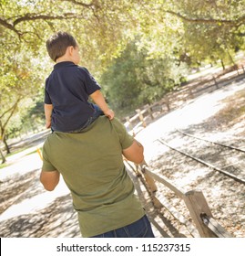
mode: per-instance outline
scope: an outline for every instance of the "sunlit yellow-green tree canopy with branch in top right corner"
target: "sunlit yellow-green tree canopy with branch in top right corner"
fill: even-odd
[[[234,52],[244,49],[244,7],[232,0],[146,1],[139,33],[153,57],[168,52],[192,66],[211,59],[233,64]]]

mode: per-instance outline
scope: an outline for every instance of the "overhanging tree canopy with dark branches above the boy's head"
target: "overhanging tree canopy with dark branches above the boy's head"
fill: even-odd
[[[0,26],[12,32],[15,40],[26,42],[33,50],[38,50],[55,31],[70,31],[77,37],[84,61],[92,66],[95,60],[103,64],[117,55],[128,37],[125,24],[128,31],[135,26],[131,9],[138,2],[5,0],[0,2]]]

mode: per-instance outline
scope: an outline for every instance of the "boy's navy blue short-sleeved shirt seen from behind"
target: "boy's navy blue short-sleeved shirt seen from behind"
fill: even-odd
[[[53,104],[52,129],[72,132],[82,128],[95,109],[88,96],[100,90],[86,68],[59,62],[46,79],[45,103]]]

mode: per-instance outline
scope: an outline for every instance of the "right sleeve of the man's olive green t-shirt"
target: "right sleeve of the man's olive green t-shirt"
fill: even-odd
[[[117,118],[114,118],[111,123],[113,123],[113,126],[117,132],[122,149],[127,149],[134,142],[133,136],[128,134],[126,127],[120,123]]]

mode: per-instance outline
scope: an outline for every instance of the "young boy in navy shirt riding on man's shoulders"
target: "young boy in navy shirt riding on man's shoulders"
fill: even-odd
[[[77,66],[80,57],[76,39],[66,32],[58,32],[46,41],[46,49],[56,61],[46,79],[46,128],[79,133],[100,114],[112,120],[114,112],[108,108],[97,81],[86,68]],[[89,96],[97,105],[88,102]]]

